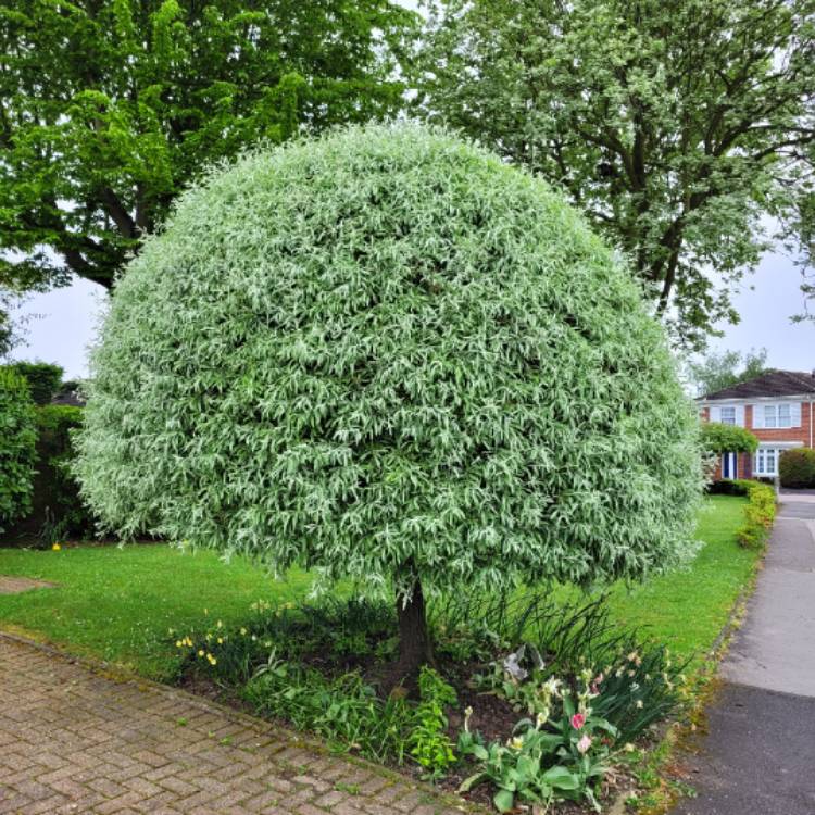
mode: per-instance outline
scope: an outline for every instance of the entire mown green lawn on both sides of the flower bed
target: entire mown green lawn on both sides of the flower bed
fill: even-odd
[[[710,648],[758,556],[736,542],[744,504],[729,496],[707,498],[699,523],[706,546],[690,569],[632,590],[615,587],[617,620],[648,626],[679,654]],[[0,595],[0,627],[159,679],[173,678],[178,666],[170,628],[200,629],[206,617],[239,624],[253,601],[298,600],[311,585],[302,570],[278,582],[239,559],[224,564],[210,552],[160,544],[0,550],[0,574],[60,586]]]

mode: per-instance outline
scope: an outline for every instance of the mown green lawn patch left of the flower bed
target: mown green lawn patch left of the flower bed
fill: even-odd
[[[279,582],[240,559],[226,564],[212,552],[162,544],[0,550],[0,574],[59,584],[0,595],[0,627],[156,679],[173,678],[178,667],[170,628],[205,627],[208,616],[239,623],[255,600],[298,600],[312,584],[303,570]]]

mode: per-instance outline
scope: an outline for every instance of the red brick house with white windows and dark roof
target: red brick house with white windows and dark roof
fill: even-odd
[[[815,372],[768,371],[697,401],[703,419],[738,425],[758,437],[755,455],[725,453],[716,478],[775,478],[785,450],[815,447]]]

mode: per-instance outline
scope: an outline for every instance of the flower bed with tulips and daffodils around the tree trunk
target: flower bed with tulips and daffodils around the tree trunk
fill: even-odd
[[[394,690],[381,677],[396,615],[378,601],[260,601],[243,625],[173,636],[187,676],[211,678],[254,713],[501,812],[555,801],[599,810],[610,770],[682,702],[684,666],[616,632],[604,599],[456,599],[431,619],[437,666]]]

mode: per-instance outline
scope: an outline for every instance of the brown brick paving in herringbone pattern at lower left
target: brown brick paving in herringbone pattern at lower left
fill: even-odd
[[[460,815],[394,774],[0,635],[0,813]]]

